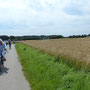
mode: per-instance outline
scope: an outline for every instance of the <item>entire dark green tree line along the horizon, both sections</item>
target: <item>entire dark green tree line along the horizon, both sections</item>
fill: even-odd
[[[1,35],[0,38],[2,40],[43,40],[43,39],[60,39],[60,38],[85,38],[90,36],[90,34],[86,35],[72,35],[68,37],[64,37],[62,35],[40,35],[40,36],[7,36],[7,35]]]

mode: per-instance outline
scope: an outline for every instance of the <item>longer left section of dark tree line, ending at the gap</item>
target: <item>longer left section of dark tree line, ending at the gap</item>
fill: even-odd
[[[6,36],[6,35],[2,35],[0,36],[0,38],[2,40],[43,40],[43,39],[59,39],[59,38],[63,38],[62,35],[40,35],[40,36]]]

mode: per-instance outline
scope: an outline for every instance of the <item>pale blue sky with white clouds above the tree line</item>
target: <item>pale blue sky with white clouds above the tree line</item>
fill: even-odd
[[[90,33],[90,0],[0,0],[0,35]]]

